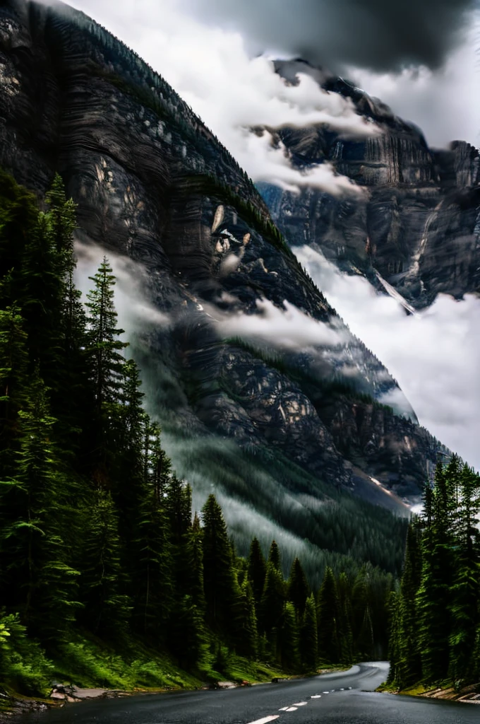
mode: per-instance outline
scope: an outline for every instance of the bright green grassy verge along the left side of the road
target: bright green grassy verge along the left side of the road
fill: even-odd
[[[77,636],[46,655],[38,644],[35,654],[22,660],[12,656],[0,684],[0,721],[4,715],[58,706],[49,698],[53,685],[102,689],[128,694],[189,691],[215,686],[218,681],[236,684],[291,678],[291,674],[265,662],[249,661],[223,649],[221,657],[206,653],[202,668],[187,671],[168,654],[152,651],[142,641],[129,640],[121,650],[93,636]],[[223,648],[223,647],[222,647]],[[317,673],[317,672],[314,672]]]

